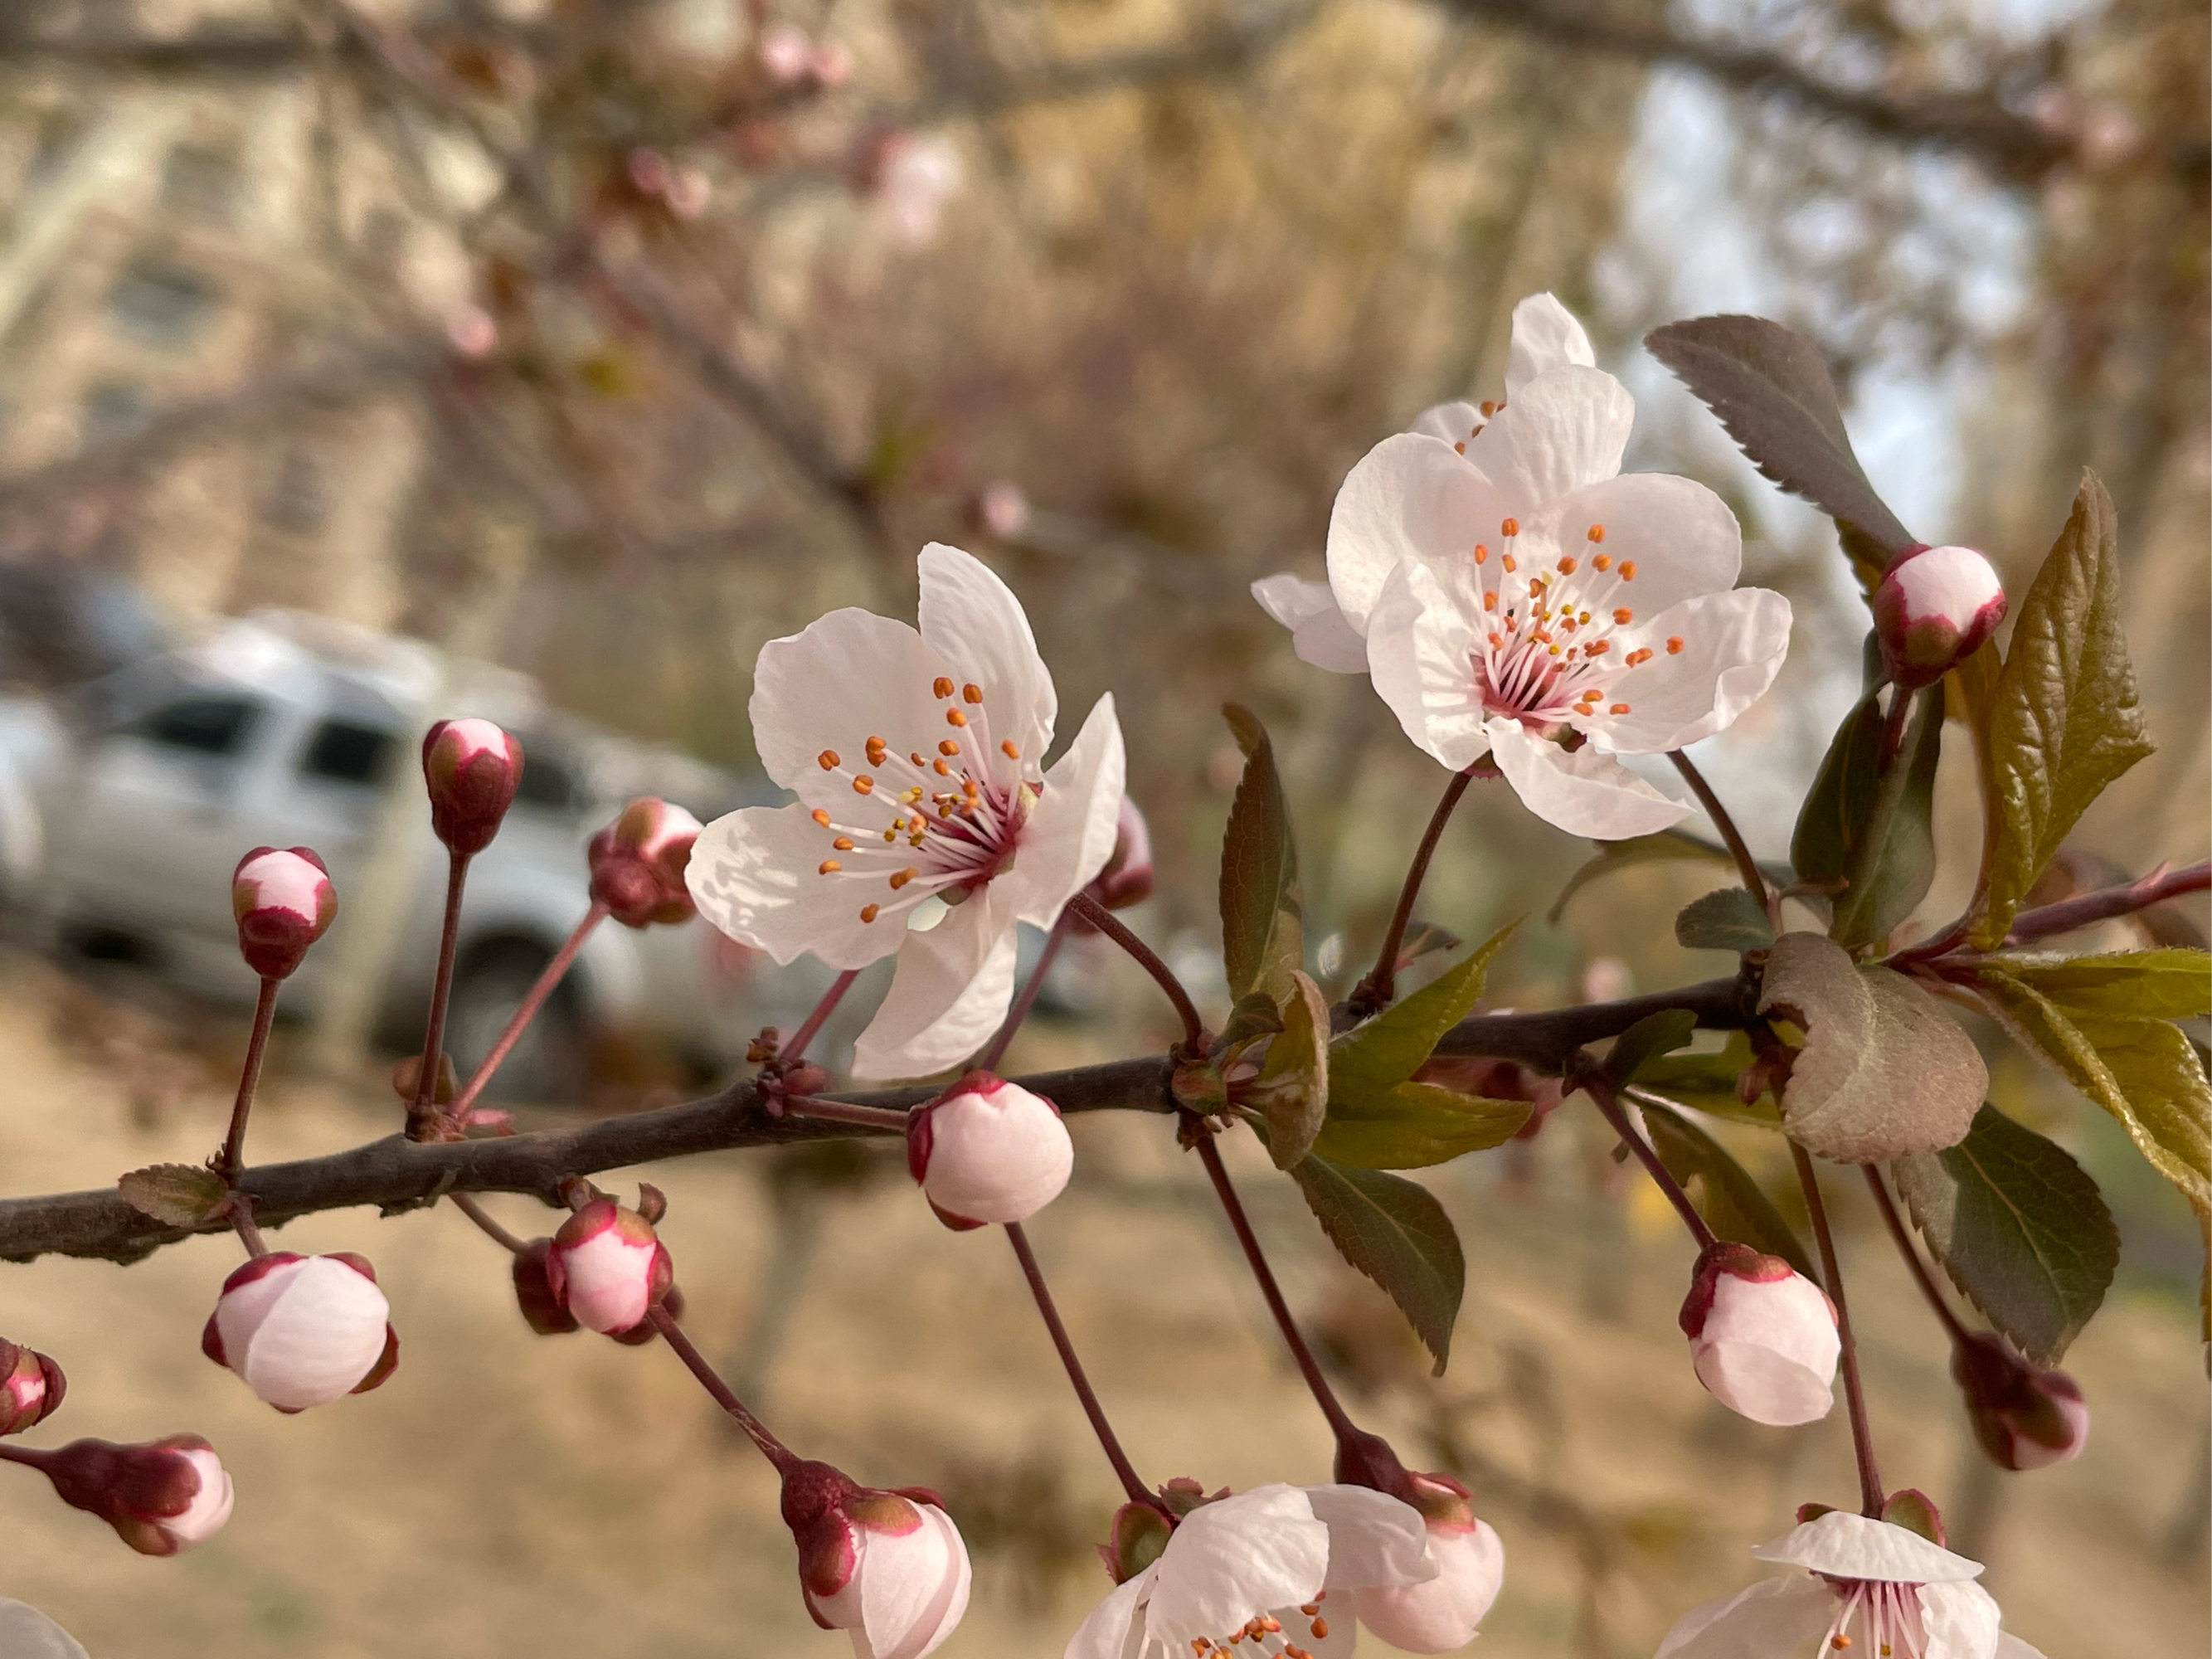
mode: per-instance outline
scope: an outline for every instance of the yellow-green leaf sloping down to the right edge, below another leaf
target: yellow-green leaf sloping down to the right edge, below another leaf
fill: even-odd
[[[2104,1106],[2199,1217],[2212,1217],[2212,1088],[2190,1040],[2163,1020],[2066,1006],[1995,962],[1980,975],[2013,1035]]]

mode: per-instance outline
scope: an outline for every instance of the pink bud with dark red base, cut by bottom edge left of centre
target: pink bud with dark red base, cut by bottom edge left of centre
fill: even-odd
[[[849,1630],[858,1659],[922,1659],[967,1613],[967,1544],[933,1491],[876,1491],[801,1462],[783,1475],[783,1522],[807,1613]]]

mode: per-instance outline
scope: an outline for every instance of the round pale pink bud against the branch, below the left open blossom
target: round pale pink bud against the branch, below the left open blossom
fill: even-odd
[[[907,1168],[929,1208],[958,1232],[1029,1221],[1068,1183],[1075,1144],[1044,1095],[971,1071],[907,1113]]]

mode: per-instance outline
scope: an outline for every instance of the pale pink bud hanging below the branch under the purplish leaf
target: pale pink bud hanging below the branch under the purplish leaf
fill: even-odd
[[[1728,1239],[1697,1259],[1681,1305],[1697,1380],[1752,1422],[1825,1418],[1834,1405],[1836,1310],[1781,1256]]]

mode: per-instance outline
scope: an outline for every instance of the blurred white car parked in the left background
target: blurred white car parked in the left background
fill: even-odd
[[[389,947],[354,936],[394,787],[422,803],[418,745],[442,714],[482,714],[522,739],[522,787],[498,841],[471,860],[447,1046],[467,1071],[491,1046],[586,896],[584,845],[633,794],[701,821],[770,799],[670,750],[553,714],[531,681],[460,670],[407,639],[292,613],[228,624],[73,692],[0,699],[0,872],[18,916],[55,945],[139,960],[195,991],[250,1002],[230,872],[252,847],[312,847],[338,920],[283,1006],[316,1018],[334,978],[369,962],[374,1026],[420,1042],[445,902],[445,849],[409,810],[383,869],[400,905]],[[392,922],[396,920],[396,927]],[[396,938],[392,938],[396,933]],[[500,1073],[504,1097],[551,1099],[582,1082],[602,1035],[637,1037],[699,1068],[743,1053],[763,1011],[757,962],[710,927],[602,925]],[[807,987],[776,987],[805,1006]],[[752,1006],[748,1006],[752,1004]]]

